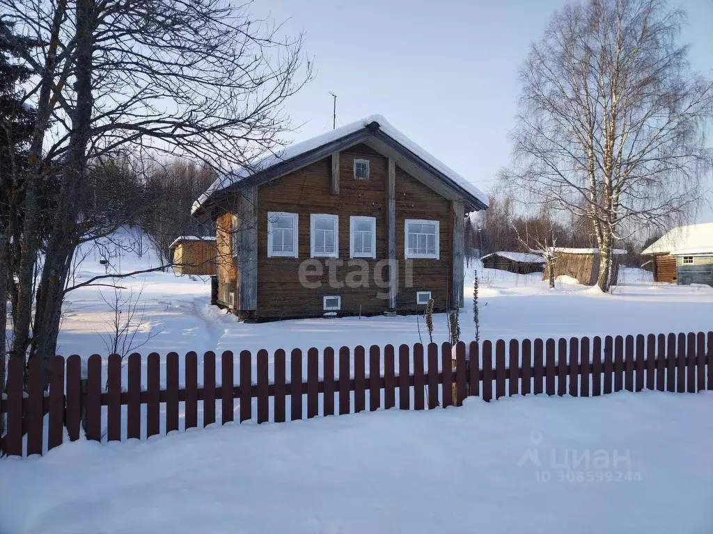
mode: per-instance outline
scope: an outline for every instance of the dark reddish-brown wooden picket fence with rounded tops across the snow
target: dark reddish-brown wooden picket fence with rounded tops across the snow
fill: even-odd
[[[153,352],[146,360],[145,388],[142,387],[142,360],[138,354],[128,357],[122,383],[123,359],[111,355],[102,376],[99,355],[88,358],[86,379],[78,355],[51,361],[48,392],[43,387],[41,361],[31,358],[25,368],[21,360],[10,360],[6,395],[1,399],[0,414],[5,417],[5,435],[0,445],[4,454],[24,456],[43,454],[62,444],[65,433],[75,441],[84,429],[86,439],[120,441],[150,437],[162,433],[162,414],[166,433],[198,426],[199,402],[202,426],[216,422],[215,403],[220,401],[221,422],[231,422],[235,402],[239,402],[240,422],[253,419],[252,399],[257,401],[257,423],[284,422],[289,406],[291,420],[303,419],[306,396],[307,419],[337,412],[349,414],[383,407],[434,409],[461,405],[468,396],[484,401],[516,394],[571,395],[593,397],[627,390],[652,389],[694,393],[713,389],[713,332],[669,335],[627,335],[572,337],[559,340],[484,341],[480,345],[463,342],[456,345],[433,343],[424,347],[400,345],[396,350],[386,345],[327,347],[322,351],[322,378],[319,377],[319,351],[299,349],[289,355],[290,380],[286,380],[287,355],[275,351],[272,361],[274,379],[270,381],[270,355],[260,350],[255,355],[257,376],[252,377],[253,355],[240,352],[237,372],[240,385],[224,387],[215,380],[216,357],[206,352],[202,359],[202,384],[198,382],[198,355],[188,352],[184,360],[184,384],[179,383],[179,356],[170,352],[165,358],[165,388],[160,387],[160,357]],[[302,376],[302,357],[307,358],[307,377]],[[335,360],[339,364],[334,373]],[[367,375],[369,369],[384,373]],[[398,364],[398,374],[396,373]],[[440,368],[439,368],[440,364]],[[235,357],[223,352],[220,357],[223,384],[234,382]],[[351,367],[354,373],[352,375]],[[250,384],[250,387],[242,387]],[[453,387],[455,384],[455,387]],[[368,395],[367,395],[368,394]],[[287,404],[287,396],[290,397]],[[321,396],[321,403],[320,403]],[[180,412],[180,403],[183,411]],[[270,417],[272,404],[272,417]],[[163,405],[163,411],[162,411]],[[123,407],[125,411],[123,412]],[[124,415],[125,414],[125,415]],[[47,416],[47,417],[46,417]],[[45,420],[47,419],[47,424]],[[122,423],[125,421],[125,428]],[[103,424],[106,422],[106,426]],[[142,430],[145,432],[142,432]]]

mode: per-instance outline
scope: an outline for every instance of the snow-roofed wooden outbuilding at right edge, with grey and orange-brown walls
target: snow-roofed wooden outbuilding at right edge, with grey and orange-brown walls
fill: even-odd
[[[713,223],[677,226],[645,248],[642,256],[651,258],[655,282],[682,283],[679,281],[682,271],[697,271],[707,265],[706,251],[713,252]],[[699,278],[699,275],[691,278],[689,274],[687,281]],[[705,273],[702,276],[705,278]]]

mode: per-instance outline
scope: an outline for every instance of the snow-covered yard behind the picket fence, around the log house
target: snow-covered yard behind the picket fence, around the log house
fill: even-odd
[[[125,254],[113,260],[121,271],[133,271],[156,264],[155,254],[141,258]],[[626,269],[621,286],[611,295],[593,291],[570,281],[558,281],[549,290],[541,275],[516,275],[492,269],[479,270],[481,280],[481,339],[523,339],[529,337],[570,337],[678,333],[713,328],[713,288],[707,286],[671,286],[653,283],[651,273]],[[88,253],[78,281],[104,273],[98,257]],[[461,310],[461,339],[473,338],[473,268],[466,268],[466,302]],[[210,306],[210,280],[175,276],[173,273],[148,273],[124,279],[121,285],[142,290],[141,309],[145,321],[137,340],[152,333],[154,337],[137,352],[179,354],[195,350],[272,352],[309,347],[347,345],[413,345],[421,338],[427,342],[423,318],[416,316],[386,318],[318,318],[286,320],[275,323],[238,323],[233,315]],[[99,291],[111,296],[108,288],[80,288],[68,293],[58,352],[62,355],[107,354],[106,337],[111,318],[108,305]],[[434,317],[434,341],[448,340],[445,314]],[[289,365],[288,365],[289,368]]]

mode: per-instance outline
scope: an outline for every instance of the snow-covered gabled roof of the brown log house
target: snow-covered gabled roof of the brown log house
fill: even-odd
[[[256,172],[264,171],[265,169],[269,169],[275,164],[285,162],[294,157],[298,157],[307,152],[311,152],[312,150],[316,150],[317,148],[322,147],[324,145],[329,145],[329,143],[336,142],[337,140],[342,139],[342,137],[346,137],[350,134],[359,132],[359,130],[364,130],[364,128],[369,127],[370,125],[374,125],[374,123],[378,125],[378,130],[381,130],[381,132],[383,132],[388,137],[391,137],[391,139],[399,143],[399,145],[405,147],[410,152],[413,152],[417,157],[421,158],[424,162],[431,165],[431,167],[434,167],[436,170],[438,170],[438,172],[441,172],[444,176],[448,177],[448,179],[450,179],[453,184],[456,184],[458,187],[461,187],[466,192],[468,192],[468,194],[471,194],[473,197],[476,197],[476,199],[481,201],[481,203],[485,206],[488,205],[488,196],[481,192],[481,190],[478,189],[475,185],[473,185],[471,182],[468,182],[468,180],[463,178],[460,174],[455,172],[443,162],[436,159],[436,157],[429,154],[429,152],[426,152],[426,150],[424,150],[415,142],[410,140],[409,137],[406,137],[406,135],[399,132],[399,130],[396,130],[396,128],[391,126],[389,122],[381,115],[369,115],[369,117],[365,117],[364,119],[356,120],[348,125],[344,125],[342,127],[336,128],[335,130],[325,132],[322,135],[317,135],[317,137],[312,137],[311,139],[302,142],[293,143],[292,145],[288,145],[287,147],[284,147],[281,150],[277,150],[277,152],[270,153],[264,157],[260,157],[255,162],[253,162],[249,168],[236,169],[228,174],[218,177],[218,179],[216,179],[215,182],[211,184],[211,186],[205,191],[205,193],[200,195],[198,200],[193,203],[191,213],[195,214],[195,212],[198,211],[201,206],[203,206],[206,201],[210,199],[210,197],[212,197],[212,195],[216,192],[222,191],[222,189],[226,189],[227,187],[235,185],[241,182],[243,179],[252,176],[252,174],[255,174]]]

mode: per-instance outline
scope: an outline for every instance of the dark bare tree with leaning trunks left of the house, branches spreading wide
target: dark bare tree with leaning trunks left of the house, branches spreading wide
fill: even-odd
[[[38,43],[21,51],[36,114],[11,357],[29,351],[47,363],[71,258],[91,236],[79,200],[88,169],[107,158],[162,156],[219,171],[245,165],[279,144],[288,125],[282,104],[310,66],[302,65],[301,36],[283,37],[279,26],[222,0],[0,0],[0,11]],[[53,181],[55,205],[46,211],[43,187]]]

